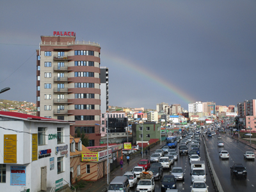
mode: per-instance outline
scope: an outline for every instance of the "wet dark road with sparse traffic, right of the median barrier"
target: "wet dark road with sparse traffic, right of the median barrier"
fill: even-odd
[[[254,154],[256,154],[255,150],[250,148],[248,145],[237,142],[226,135],[223,135],[221,140],[224,141],[224,147],[218,147],[218,138],[216,135],[212,136],[212,138],[206,137],[206,145],[209,151],[209,156],[211,157],[214,170],[218,175],[223,191],[256,191],[255,161],[250,161],[243,158],[244,152],[252,151]],[[220,150],[227,150],[230,158],[227,160],[220,159]],[[230,167],[234,163],[241,163],[246,167],[247,179],[231,179]]]

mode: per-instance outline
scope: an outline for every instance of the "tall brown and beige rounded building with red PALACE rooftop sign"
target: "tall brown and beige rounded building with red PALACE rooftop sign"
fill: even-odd
[[[100,45],[76,41],[76,33],[41,36],[36,50],[37,116],[74,121],[90,146],[100,140]]]

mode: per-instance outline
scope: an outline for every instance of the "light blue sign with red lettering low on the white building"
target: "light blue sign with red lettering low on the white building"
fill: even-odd
[[[26,166],[11,166],[11,186],[26,186]]]

